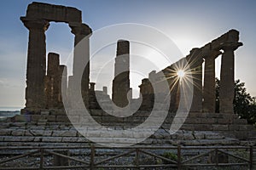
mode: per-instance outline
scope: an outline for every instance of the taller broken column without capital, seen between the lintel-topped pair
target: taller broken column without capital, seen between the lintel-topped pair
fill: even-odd
[[[56,108],[59,103],[61,92],[59,78],[60,55],[55,53],[48,54],[47,81],[46,81],[46,105],[47,108]]]

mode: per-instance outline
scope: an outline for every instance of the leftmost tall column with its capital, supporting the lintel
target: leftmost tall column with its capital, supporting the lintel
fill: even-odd
[[[46,70],[45,35],[49,27],[46,20],[20,20],[29,30],[26,65],[26,108],[45,108],[44,78]]]

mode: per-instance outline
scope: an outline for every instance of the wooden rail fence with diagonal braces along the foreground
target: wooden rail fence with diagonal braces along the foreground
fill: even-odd
[[[108,156],[107,158],[102,158],[100,160],[96,159],[96,150],[122,150],[121,153],[114,156]],[[119,148],[108,148],[104,146],[95,146],[91,144],[90,146],[67,146],[67,147],[32,147],[32,146],[7,146],[0,147],[0,156],[2,155],[1,151],[3,150],[23,150],[23,152],[18,156],[13,156],[10,158],[3,158],[0,160],[0,170],[21,170],[21,169],[97,169],[97,168],[137,168],[140,167],[176,167],[177,169],[182,169],[183,167],[232,167],[232,166],[247,166],[249,169],[253,169],[253,146],[131,146],[131,147],[119,147]],[[28,151],[27,151],[28,150]],[[69,156],[68,154],[60,153],[60,150],[89,150],[89,155],[87,160],[77,158],[74,156]],[[170,158],[168,156],[163,156],[162,154],[155,153],[156,151],[168,151],[174,150],[174,155],[176,159]],[[188,150],[199,150],[199,154],[196,156],[185,157],[184,152]],[[244,150],[244,153],[247,153],[245,156],[237,156],[230,150]],[[106,151],[108,152],[108,151]],[[154,164],[144,164],[140,161],[141,156],[151,156],[154,159],[158,159],[161,162]],[[213,162],[195,162],[199,159],[203,159],[204,156],[214,156]],[[25,158],[26,156],[36,156],[38,157],[38,166],[37,167],[6,167],[4,164],[18,160],[20,158]],[[77,162],[79,165],[54,165],[48,166],[45,165],[44,158],[45,156],[58,156],[62,159],[69,161]],[[131,156],[133,157],[132,164],[129,165],[110,165],[109,162],[117,158]],[[219,162],[218,156],[228,156],[236,159],[236,162]],[[2,156],[3,157],[3,156]],[[164,163],[163,163],[164,162]],[[255,164],[255,163],[254,163]],[[255,167],[254,167],[255,168]]]

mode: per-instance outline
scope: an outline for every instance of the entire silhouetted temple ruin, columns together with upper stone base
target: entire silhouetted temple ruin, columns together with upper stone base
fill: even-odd
[[[172,65],[166,65],[166,69],[162,70],[165,77],[160,77],[160,72],[151,71],[148,78],[144,78],[142,84],[139,85],[141,93],[139,99],[142,99],[139,110],[132,116],[115,117],[104,111],[102,106],[112,110],[112,102],[119,107],[125,107],[130,102],[137,102],[137,99],[131,99],[129,96],[131,95],[129,40],[117,42],[115,64],[113,65],[115,76],[112,87],[113,94],[110,99],[107,87],[96,90],[95,82],[90,82],[89,49],[92,31],[89,26],[82,23],[79,9],[46,3],[31,3],[26,10],[26,16],[20,17],[20,20],[29,30],[26,108],[21,111],[21,116],[15,116],[15,121],[70,123],[63,107],[63,96],[61,95],[68,96],[75,92],[78,87],[74,87],[76,83],[73,81],[82,77],[79,83],[82,87],[81,92],[76,93],[82,94],[84,105],[90,110],[90,114],[96,122],[104,126],[119,128],[137,126],[144,122],[150,114],[154,106],[154,94],[162,93],[161,91],[154,92],[152,83],[159,83],[162,78],[165,78],[170,87],[168,93],[172,95],[169,114],[162,128],[169,128],[180,101],[178,82],[182,80],[177,77],[177,71],[178,68],[183,68],[191,71],[194,94],[189,116],[181,130],[213,131],[226,136],[235,136],[237,139],[255,136],[255,131],[252,131],[253,127],[247,125],[246,120],[239,119],[233,111],[234,52],[242,45],[239,42],[239,32],[236,30],[224,33],[201,48],[193,48],[187,56]],[[51,21],[67,23],[74,34],[74,46],[78,47],[75,48],[73,54],[73,76],[67,77],[68,68],[65,65],[60,65],[60,56],[55,53],[48,54],[46,71],[44,33]],[[79,42],[82,40],[85,41],[83,47],[79,46]],[[220,56],[222,58],[219,89],[220,113],[215,113],[215,59]],[[185,68],[185,62],[189,63],[189,68]],[[83,63],[88,64],[83,65]],[[202,65],[205,65],[204,70]],[[84,66],[84,72],[80,75],[79,70]],[[61,81],[64,81],[64,87],[63,85],[61,87]],[[67,89],[67,94],[61,94],[61,88]],[[69,102],[76,103],[74,100]],[[157,140],[157,142],[159,141]]]

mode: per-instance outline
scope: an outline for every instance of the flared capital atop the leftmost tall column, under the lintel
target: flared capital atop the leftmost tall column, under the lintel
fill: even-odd
[[[47,20],[28,20],[26,17],[20,17],[20,20],[28,30],[46,31],[49,27],[49,21]]]

